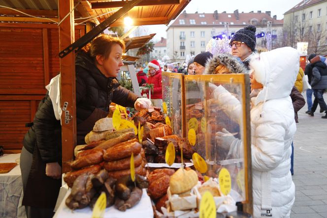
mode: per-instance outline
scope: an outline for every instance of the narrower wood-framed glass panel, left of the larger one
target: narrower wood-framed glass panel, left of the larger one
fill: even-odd
[[[171,121],[174,135],[185,137],[184,74],[162,73],[163,103],[167,106],[167,116]]]

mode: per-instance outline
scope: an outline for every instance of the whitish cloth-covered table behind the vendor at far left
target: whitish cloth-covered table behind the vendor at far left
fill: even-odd
[[[14,163],[20,154],[4,154],[0,163]],[[26,218],[25,207],[22,206],[23,182],[19,165],[9,173],[0,174],[0,217]]]

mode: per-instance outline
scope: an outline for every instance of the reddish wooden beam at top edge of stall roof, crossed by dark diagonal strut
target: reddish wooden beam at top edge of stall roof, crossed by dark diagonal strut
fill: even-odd
[[[126,1],[109,1],[109,2],[92,2],[92,9],[99,8],[114,8],[114,7],[123,7],[127,2],[134,0]],[[136,4],[136,6],[153,6],[153,5],[164,5],[164,4],[179,4],[179,0],[143,0],[142,2]]]

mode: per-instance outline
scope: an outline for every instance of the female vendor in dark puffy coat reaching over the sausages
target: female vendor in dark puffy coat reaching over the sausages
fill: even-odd
[[[98,119],[107,116],[111,102],[137,110],[151,105],[148,99],[120,86],[115,78],[123,66],[124,50],[124,41],[100,35],[77,53],[77,144],[85,144],[85,135]],[[53,79],[60,81],[59,76]],[[24,192],[22,205],[26,208],[27,218],[52,218],[61,187],[61,121],[55,112],[58,108],[56,99],[50,96],[47,92],[41,100],[33,125],[23,141],[20,167]]]

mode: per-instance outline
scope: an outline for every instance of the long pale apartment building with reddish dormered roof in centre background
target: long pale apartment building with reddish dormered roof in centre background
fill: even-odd
[[[186,13],[183,11],[167,28],[167,55],[174,61],[184,61],[187,56],[193,56],[205,51],[212,36],[222,33],[229,35],[247,25],[257,27],[257,33],[267,32],[267,24],[271,22],[272,47],[283,30],[283,20],[271,17],[270,11],[239,13]],[[265,37],[257,38],[257,45],[265,47]]]

